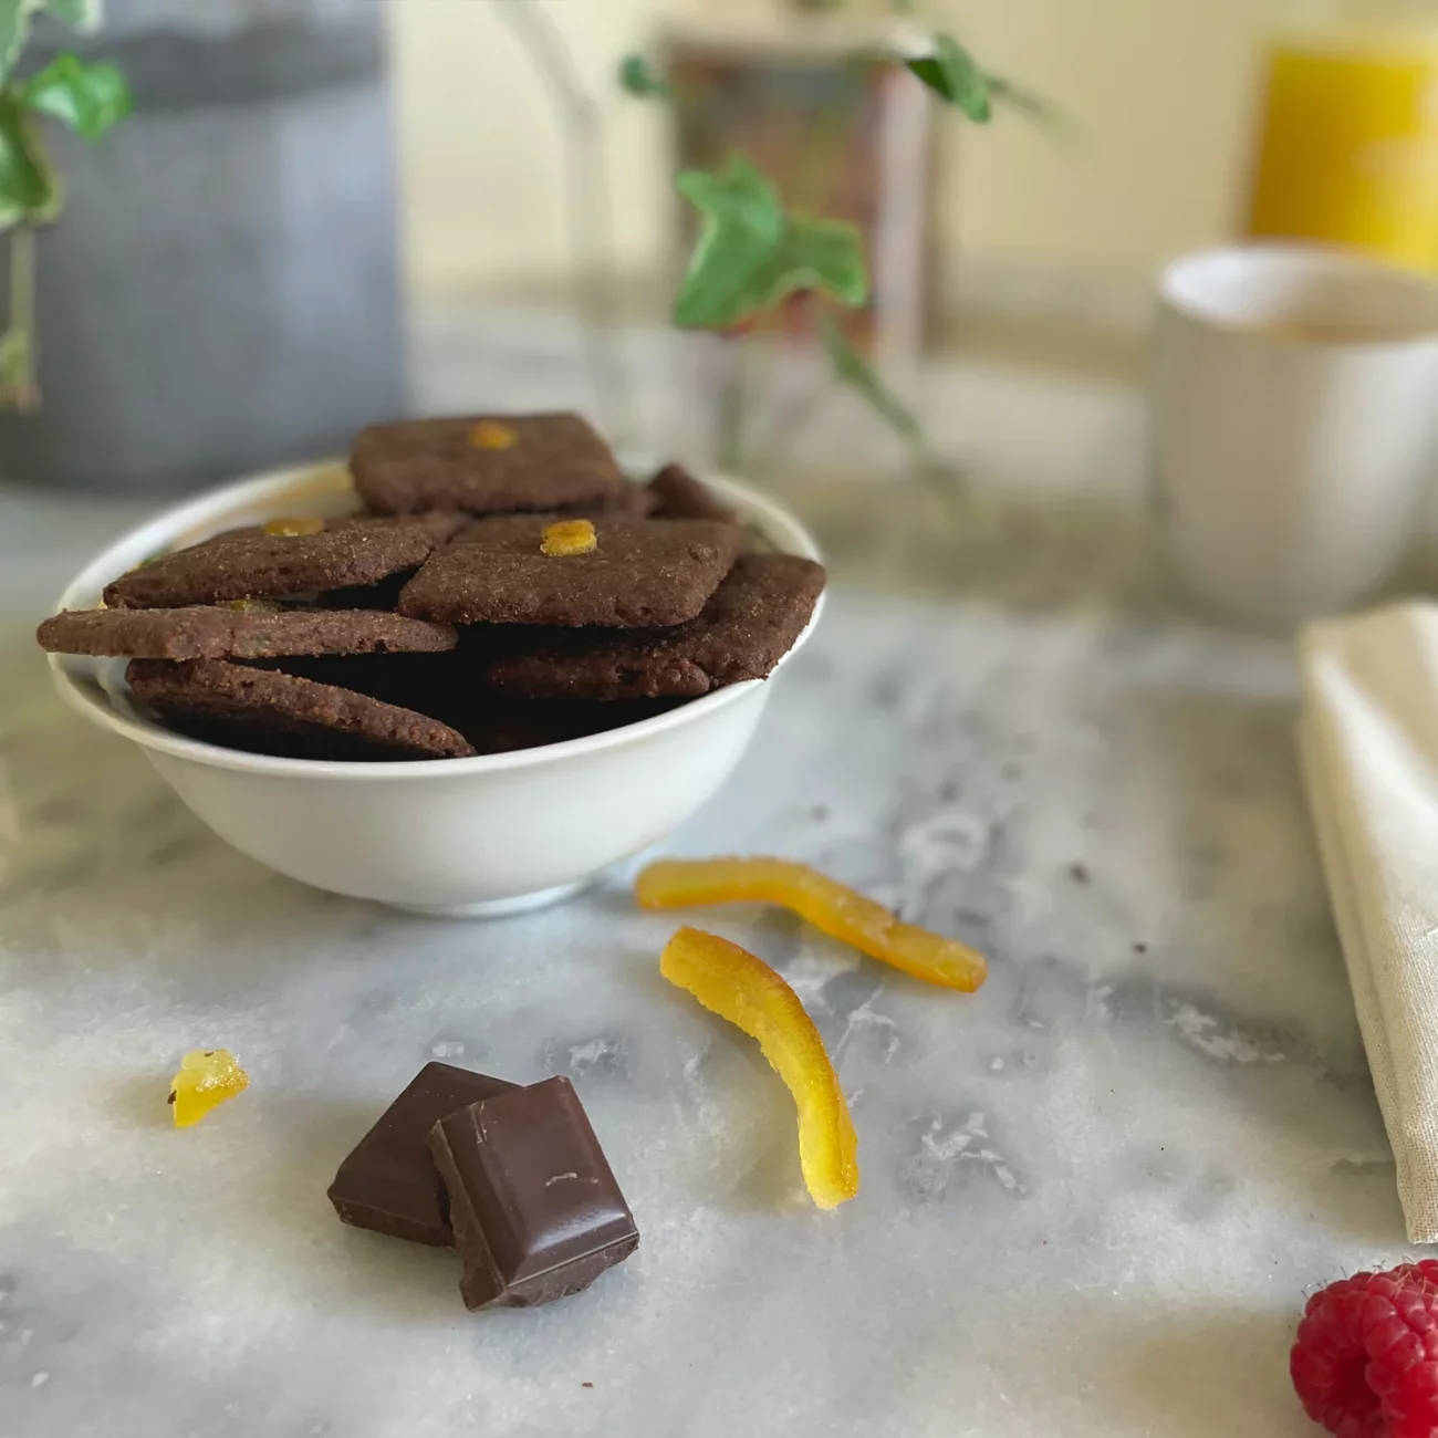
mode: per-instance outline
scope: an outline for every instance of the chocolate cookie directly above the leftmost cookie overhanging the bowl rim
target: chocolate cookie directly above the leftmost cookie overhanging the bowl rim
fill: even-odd
[[[318,533],[236,531],[162,555],[105,590],[115,608],[279,598],[375,584],[423,564],[466,523],[457,515],[338,519]]]

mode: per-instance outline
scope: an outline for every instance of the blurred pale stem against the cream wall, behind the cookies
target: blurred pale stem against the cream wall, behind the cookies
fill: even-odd
[[[614,335],[614,233],[603,115],[564,35],[541,4],[502,0],[495,9],[523,46],[559,111],[580,316],[605,427],[623,443],[633,439],[634,410]]]

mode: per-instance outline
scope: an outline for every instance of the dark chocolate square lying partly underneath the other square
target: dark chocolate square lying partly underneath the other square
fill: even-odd
[[[449,1195],[430,1158],[430,1129],[444,1114],[513,1087],[453,1064],[426,1064],[339,1165],[329,1185],[335,1212],[357,1228],[453,1247]]]

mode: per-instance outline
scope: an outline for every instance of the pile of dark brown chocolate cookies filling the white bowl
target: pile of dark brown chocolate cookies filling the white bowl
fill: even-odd
[[[631,483],[577,416],[372,426],[351,469],[362,515],[152,559],[40,644],[128,657],[135,697],[209,742],[460,758],[764,679],[824,587],[808,559],[752,552],[679,466]],[[558,521],[587,521],[578,548],[549,542]]]

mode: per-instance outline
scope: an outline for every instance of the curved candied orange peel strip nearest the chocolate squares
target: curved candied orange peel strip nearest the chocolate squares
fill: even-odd
[[[798,994],[762,959],[699,929],[680,929],[659,972],[759,1041],[800,1110],[800,1166],[810,1198],[837,1208],[858,1192],[858,1137],[844,1090]]]

